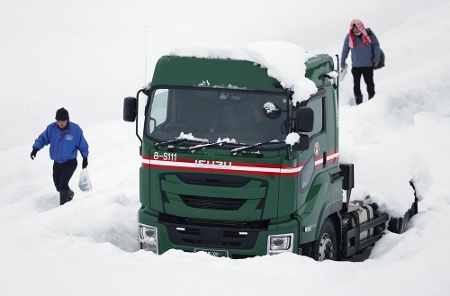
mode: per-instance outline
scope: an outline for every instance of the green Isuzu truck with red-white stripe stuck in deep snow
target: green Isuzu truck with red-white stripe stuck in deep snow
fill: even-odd
[[[395,219],[370,197],[350,202],[354,166],[339,164],[338,69],[325,54],[305,66],[317,93],[294,103],[293,89],[251,60],[158,59],[151,84],[123,105],[141,143],[140,249],[345,260],[385,229],[405,229],[417,198]],[[147,97],[141,124],[139,95]]]

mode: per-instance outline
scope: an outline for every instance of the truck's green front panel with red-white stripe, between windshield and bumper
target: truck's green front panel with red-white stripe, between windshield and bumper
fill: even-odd
[[[293,199],[280,201],[280,180],[293,182],[300,168],[286,163],[280,150],[265,151],[262,158],[231,157],[219,149],[176,157],[155,152],[144,153],[140,169],[140,182],[147,184],[140,187],[140,202],[146,208],[185,218],[241,221],[273,219],[295,209]]]

